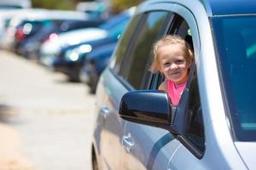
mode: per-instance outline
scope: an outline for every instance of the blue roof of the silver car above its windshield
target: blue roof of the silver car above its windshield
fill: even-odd
[[[254,0],[199,0],[209,15],[256,14]]]

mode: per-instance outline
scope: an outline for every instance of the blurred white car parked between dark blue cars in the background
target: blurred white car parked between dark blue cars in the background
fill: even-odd
[[[135,9],[135,7],[131,7],[125,10],[124,13],[133,14]],[[53,34],[49,37],[49,40],[42,43],[39,59],[43,65],[51,67],[55,58],[61,53],[61,48],[79,44],[80,42],[91,42],[108,37],[108,31],[113,30],[115,26],[119,26],[123,20],[124,17],[118,14],[99,27],[67,31],[59,35]]]

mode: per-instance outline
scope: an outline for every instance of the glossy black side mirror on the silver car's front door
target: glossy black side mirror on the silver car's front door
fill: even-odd
[[[175,108],[170,105],[168,94],[158,90],[137,90],[126,93],[119,106],[119,115],[130,122],[172,129]]]

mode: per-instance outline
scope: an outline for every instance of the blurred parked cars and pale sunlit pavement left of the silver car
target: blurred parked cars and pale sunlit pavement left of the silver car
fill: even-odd
[[[0,169],[90,170],[96,85],[139,0],[0,0]]]

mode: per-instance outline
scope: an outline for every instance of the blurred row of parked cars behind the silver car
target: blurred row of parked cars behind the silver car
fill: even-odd
[[[84,82],[98,78],[141,0],[0,0],[0,48]]]

